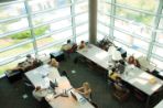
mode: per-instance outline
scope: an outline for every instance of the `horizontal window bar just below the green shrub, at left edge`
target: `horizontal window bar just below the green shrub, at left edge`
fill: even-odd
[[[7,46],[4,48],[0,48],[0,53],[6,52],[6,51],[9,51],[9,50],[12,50],[12,48],[15,48],[15,47],[20,47],[20,46],[22,46],[24,44],[28,44],[30,42],[32,42],[32,41],[31,40],[28,40],[28,41],[23,41],[23,42],[21,42],[19,44],[14,44],[14,45],[11,45],[11,46]]]

